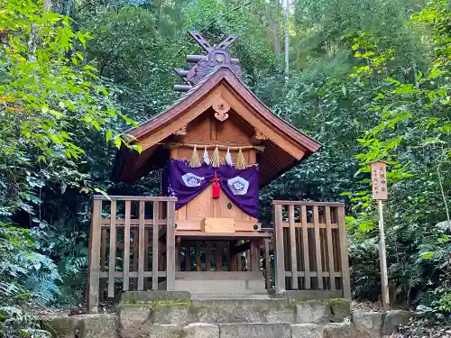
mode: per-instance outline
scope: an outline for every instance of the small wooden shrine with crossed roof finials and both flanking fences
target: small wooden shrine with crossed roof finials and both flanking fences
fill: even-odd
[[[276,292],[287,288],[286,279],[290,288],[301,284],[309,289],[314,284],[321,289],[326,283],[327,288],[347,288],[338,272],[347,266],[341,254],[343,205],[290,202],[288,222],[283,222],[284,202],[274,201],[279,218],[274,230],[258,220],[259,188],[321,145],[272,114],[245,86],[240,61],[227,51],[236,36],[211,46],[198,32],[189,33],[206,55],[189,55],[194,66],[175,69],[184,81],[175,89],[185,94],[165,112],[127,131],[142,152],[122,149],[115,160],[113,178],[125,183],[159,169],[160,196],[110,196],[107,218],[101,216],[106,198],[95,196],[91,242],[94,238],[101,245],[97,250],[91,243],[89,290],[98,292],[98,280],[107,278],[108,296],[113,297],[114,279],[120,277],[124,290],[133,288],[130,279],[137,279],[137,289],[262,293],[271,288],[272,247]],[[122,201],[124,207],[118,206]],[[146,206],[149,202],[152,207]],[[98,233],[97,222],[104,224]],[[340,227],[343,231],[338,233]],[[273,233],[279,233],[279,244],[270,247]],[[116,245],[119,237],[124,238],[121,248]],[[285,251],[290,245],[294,249]],[[118,269],[121,249],[124,266]],[[266,284],[261,269],[266,271]],[[89,300],[94,312],[98,294]]]

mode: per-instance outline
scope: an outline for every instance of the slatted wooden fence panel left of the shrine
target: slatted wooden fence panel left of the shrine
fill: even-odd
[[[152,286],[157,290],[164,280],[167,290],[175,288],[175,201],[157,196],[94,196],[87,271],[90,313],[97,313],[106,290],[107,297],[115,297],[120,289]],[[161,259],[164,255],[166,260]],[[122,279],[122,288],[115,288],[117,279]]]

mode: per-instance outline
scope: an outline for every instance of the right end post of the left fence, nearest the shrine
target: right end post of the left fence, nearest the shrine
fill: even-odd
[[[166,289],[175,290],[175,202],[168,202],[166,229]]]

